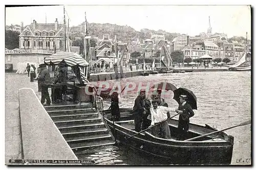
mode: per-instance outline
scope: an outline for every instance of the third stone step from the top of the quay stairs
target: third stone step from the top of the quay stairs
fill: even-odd
[[[53,122],[66,121],[66,120],[91,119],[91,118],[98,118],[98,117],[99,117],[98,113],[51,116]]]

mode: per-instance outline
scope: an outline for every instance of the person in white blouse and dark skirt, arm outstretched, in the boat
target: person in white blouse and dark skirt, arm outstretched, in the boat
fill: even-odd
[[[156,100],[152,101],[153,109],[151,109],[151,126],[148,128],[152,128],[152,135],[164,139],[170,139],[170,129],[168,127],[168,123],[166,122],[167,119],[167,112],[179,112],[176,108],[169,108],[164,106],[159,106]]]

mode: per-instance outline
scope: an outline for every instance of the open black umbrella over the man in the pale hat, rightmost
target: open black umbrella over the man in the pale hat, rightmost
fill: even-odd
[[[176,90],[174,90],[174,100],[180,104],[180,95],[186,95],[187,96],[187,102],[192,107],[192,109],[197,110],[197,97],[196,95],[191,91],[186,89],[185,87],[180,87]]]

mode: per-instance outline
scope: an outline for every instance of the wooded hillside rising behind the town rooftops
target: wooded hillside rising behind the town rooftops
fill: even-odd
[[[26,27],[26,26],[25,26]],[[172,41],[175,37],[180,36],[180,33],[169,33],[163,30],[149,30],[149,29],[141,29],[140,31],[136,31],[132,27],[129,26],[118,26],[113,25],[111,23],[87,23],[88,33],[92,37],[102,38],[104,34],[109,34],[111,39],[114,39],[115,35],[117,40],[121,40],[122,42],[137,40],[139,37],[140,41],[151,38],[152,35],[164,35],[168,41]],[[19,25],[11,25],[6,26],[6,30],[15,30],[20,31]],[[74,40],[75,37],[82,37],[84,34],[84,22],[78,26],[70,27],[69,28],[70,36]],[[245,44],[246,38],[245,37],[231,37],[228,38],[228,42],[238,44]],[[247,41],[250,44],[250,40]]]

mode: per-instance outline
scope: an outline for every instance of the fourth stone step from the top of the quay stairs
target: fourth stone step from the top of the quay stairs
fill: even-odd
[[[101,119],[99,117],[92,119],[80,119],[80,120],[66,120],[54,122],[58,128],[67,127],[67,126],[78,126],[78,125],[88,125],[88,124],[99,124]]]

